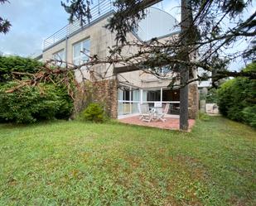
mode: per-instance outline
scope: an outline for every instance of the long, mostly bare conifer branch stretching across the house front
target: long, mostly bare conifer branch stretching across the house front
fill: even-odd
[[[22,73],[22,72],[12,72],[15,79],[20,79],[21,76],[26,76],[27,79],[18,82],[16,88],[9,89],[7,93],[12,93],[17,89],[21,89],[26,85],[36,86],[40,83],[53,83],[53,84],[64,84],[67,88],[70,88],[70,84],[77,84],[75,83],[75,70],[78,70],[82,75],[83,80],[88,81],[98,81],[104,80],[109,78],[123,78],[122,74],[114,74],[110,72],[110,69],[116,68],[118,65],[125,65],[126,67],[130,66],[133,67],[135,70],[140,70],[142,73],[145,74],[152,74],[157,77],[157,79],[166,79],[167,74],[162,74],[159,72],[163,66],[166,67],[167,71],[169,71],[168,78],[171,79],[170,86],[179,86],[183,87],[186,84],[190,84],[191,82],[199,81],[199,80],[206,80],[206,79],[213,79],[217,81],[219,79],[227,78],[227,77],[248,77],[249,79],[256,79],[256,72],[255,71],[229,71],[229,70],[219,70],[217,73],[209,76],[197,76],[197,79],[190,79],[185,84],[180,84],[181,76],[178,74],[179,72],[179,65],[187,65],[189,67],[200,67],[205,69],[206,71],[215,71],[216,65],[207,62],[207,61],[200,61],[200,60],[179,60],[176,58],[176,50],[181,49],[181,46],[169,46],[171,44],[170,41],[166,41],[166,43],[159,42],[157,40],[142,43],[140,41],[131,41],[128,42],[125,46],[137,47],[138,52],[134,54],[129,54],[128,56],[124,56],[121,53],[117,52],[117,50],[123,46],[118,46],[118,49],[114,47],[110,50],[109,56],[106,58],[99,58],[98,55],[88,55],[89,60],[81,65],[74,65],[72,63],[63,61],[63,60],[49,60],[43,66],[39,72],[35,74],[29,73]],[[165,53],[161,53],[162,49],[168,48],[169,55]],[[239,54],[238,54],[239,55]],[[220,61],[218,59],[215,62]],[[225,65],[225,63],[223,63]],[[64,67],[61,65],[65,65]],[[106,69],[99,73],[95,70],[96,65],[104,65],[107,66]],[[220,67],[223,66],[220,64]],[[85,68],[85,69],[83,69]],[[151,68],[151,69],[148,69]],[[85,72],[90,74],[90,79],[85,79]],[[128,82],[128,79],[126,79]],[[70,96],[75,98],[71,95],[71,91],[69,91]]]

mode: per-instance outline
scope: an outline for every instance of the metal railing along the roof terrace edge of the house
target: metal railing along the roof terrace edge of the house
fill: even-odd
[[[84,29],[110,12],[114,12],[112,0],[100,1],[98,5],[91,8],[91,18],[89,19],[89,22],[87,21],[85,24],[83,24],[83,26],[81,26],[80,22],[76,21],[72,24],[64,26],[59,31],[56,31],[53,35],[44,40],[43,50],[46,50],[59,41],[65,40],[66,37],[73,35],[75,32],[80,31],[81,29]]]

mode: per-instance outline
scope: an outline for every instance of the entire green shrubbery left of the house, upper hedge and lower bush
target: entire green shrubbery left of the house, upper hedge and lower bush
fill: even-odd
[[[0,56],[0,122],[31,123],[38,120],[68,118],[72,113],[73,101],[67,90],[54,84],[39,87],[24,87],[6,93],[17,83],[12,82],[12,72],[36,73],[42,63],[19,56]],[[26,79],[26,76],[16,77]]]

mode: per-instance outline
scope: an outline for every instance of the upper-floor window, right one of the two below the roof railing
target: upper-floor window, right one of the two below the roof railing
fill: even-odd
[[[80,41],[73,46],[73,63],[81,65],[89,60],[89,39]]]

